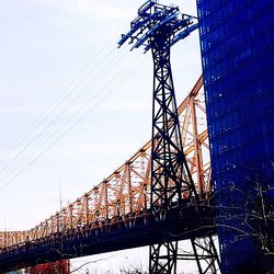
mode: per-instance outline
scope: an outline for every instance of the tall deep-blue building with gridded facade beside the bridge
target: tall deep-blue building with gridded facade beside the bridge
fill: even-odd
[[[258,185],[273,195],[274,0],[197,0],[197,11],[217,219],[230,208],[222,273],[263,273],[264,247],[238,208],[252,207]]]

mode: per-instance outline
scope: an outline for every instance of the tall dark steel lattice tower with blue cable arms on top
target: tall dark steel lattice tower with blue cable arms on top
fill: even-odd
[[[138,10],[138,16],[130,26],[132,30],[122,35],[118,47],[127,39],[132,49],[145,46],[145,53],[151,49],[153,59],[153,100],[152,100],[152,137],[151,137],[151,199],[150,209],[156,221],[169,221],[170,215],[179,213],[183,204],[191,201],[199,203],[183,153],[182,137],[171,71],[170,49],[178,41],[186,37],[198,27],[196,19],[181,14],[178,7],[169,7],[158,1],[147,1]],[[135,44],[134,44],[135,43]],[[170,221],[172,221],[170,219]],[[197,261],[199,273],[216,273],[216,249],[209,244],[201,244],[192,239],[193,258]],[[199,260],[205,260],[197,252],[203,249],[207,254],[206,270]],[[175,238],[164,239],[150,246],[150,273],[175,273],[178,252]],[[185,255],[182,260],[190,260]]]

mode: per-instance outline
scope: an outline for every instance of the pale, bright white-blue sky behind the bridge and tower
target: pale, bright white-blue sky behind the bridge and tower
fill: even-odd
[[[193,0],[161,2],[196,13]],[[150,139],[150,53],[117,49],[142,3],[0,1],[0,230],[39,224]],[[197,32],[173,46],[172,69],[181,102],[201,75]],[[115,262],[146,264],[146,249],[123,252]]]

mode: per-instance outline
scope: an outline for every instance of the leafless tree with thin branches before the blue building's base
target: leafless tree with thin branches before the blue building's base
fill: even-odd
[[[262,173],[253,172],[241,186],[228,183],[227,187],[215,191],[208,206],[216,212],[215,226],[218,231],[228,236],[222,239],[222,250],[252,242],[258,252],[260,273],[274,273],[273,182]],[[248,263],[249,273],[253,273],[252,263]],[[254,273],[259,273],[259,270],[254,270]]]

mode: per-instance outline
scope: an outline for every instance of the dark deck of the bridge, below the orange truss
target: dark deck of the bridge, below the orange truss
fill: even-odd
[[[0,272],[60,259],[138,248],[168,240],[184,240],[215,233],[209,207],[172,209],[164,220],[149,213],[116,222],[92,224],[64,233],[1,250]]]

